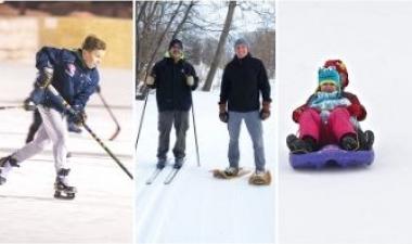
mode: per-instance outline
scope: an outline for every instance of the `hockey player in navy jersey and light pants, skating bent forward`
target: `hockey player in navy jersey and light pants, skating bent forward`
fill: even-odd
[[[36,55],[38,77],[30,100],[37,105],[42,124],[35,139],[12,155],[0,159],[0,183],[4,183],[13,167],[40,153],[51,141],[53,144],[55,197],[73,198],[76,188],[68,183],[70,171],[66,159],[66,117],[78,125],[86,120],[83,112],[89,97],[99,84],[96,66],[105,54],[106,44],[98,37],[88,36],[81,49],[67,50],[43,47]],[[53,86],[75,110],[68,113],[48,86]]]

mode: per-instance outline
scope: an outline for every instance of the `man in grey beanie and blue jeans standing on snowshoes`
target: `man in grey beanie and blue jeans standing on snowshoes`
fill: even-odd
[[[245,39],[237,39],[234,44],[235,56],[224,68],[220,101],[219,118],[228,124],[229,130],[229,167],[216,170],[215,177],[232,178],[242,175],[239,166],[239,136],[242,120],[245,121],[254,145],[255,172],[249,178],[252,184],[269,184],[270,172],[266,170],[261,120],[270,116],[270,84],[263,63],[253,57]],[[260,108],[260,93],[262,97]]]

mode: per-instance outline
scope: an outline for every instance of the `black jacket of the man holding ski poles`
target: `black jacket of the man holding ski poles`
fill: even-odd
[[[198,85],[198,77],[193,66],[184,60],[178,63],[171,57],[164,57],[152,69],[156,89],[157,110],[164,111],[189,111],[192,106],[192,90]],[[186,77],[193,76],[194,86],[189,87]]]

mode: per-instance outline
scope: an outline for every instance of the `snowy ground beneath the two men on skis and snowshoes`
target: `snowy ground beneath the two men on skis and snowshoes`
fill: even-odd
[[[274,87],[272,86],[272,90]],[[274,92],[273,92],[274,95]],[[163,183],[170,166],[157,180],[145,180],[155,168],[157,149],[157,106],[149,97],[137,150],[136,241],[139,243],[273,243],[275,194],[270,187],[253,187],[248,176],[222,181],[214,179],[214,168],[228,166],[229,134],[218,118],[218,92],[193,92],[202,167],[196,166],[196,151],[191,117],[186,138],[186,163],[175,181]],[[141,115],[143,102],[136,105]],[[273,111],[273,114],[275,112]],[[263,123],[268,169],[275,176],[274,118]],[[139,117],[140,118],[140,117]],[[170,147],[175,142],[172,131]],[[253,147],[243,125],[241,166],[254,169]],[[169,152],[172,164],[172,154]]]

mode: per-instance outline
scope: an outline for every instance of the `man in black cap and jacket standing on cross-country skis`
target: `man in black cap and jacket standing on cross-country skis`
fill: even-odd
[[[198,78],[194,67],[184,59],[183,43],[173,39],[165,57],[157,62],[150,74],[146,86],[156,89],[158,110],[158,169],[167,163],[170,131],[176,129],[173,168],[180,169],[185,157],[185,137],[189,129],[189,110],[192,106],[192,90],[195,90]]]

